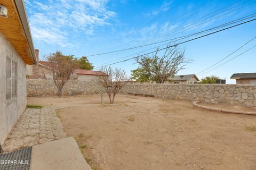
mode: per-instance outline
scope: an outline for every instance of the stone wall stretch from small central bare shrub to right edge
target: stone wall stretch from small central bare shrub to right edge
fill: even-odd
[[[256,86],[244,84],[127,84],[121,92],[209,104],[256,106]]]

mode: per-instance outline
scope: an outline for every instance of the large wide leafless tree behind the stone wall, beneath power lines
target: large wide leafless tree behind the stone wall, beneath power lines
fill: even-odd
[[[151,81],[164,83],[169,77],[173,77],[178,71],[185,69],[192,60],[184,57],[185,50],[179,50],[177,46],[167,46],[162,57],[158,56],[159,49],[152,56],[141,56],[135,58],[136,62],[148,73]]]

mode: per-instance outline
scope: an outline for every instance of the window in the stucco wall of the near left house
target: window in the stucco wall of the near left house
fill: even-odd
[[[6,57],[6,100],[17,96],[17,63]]]

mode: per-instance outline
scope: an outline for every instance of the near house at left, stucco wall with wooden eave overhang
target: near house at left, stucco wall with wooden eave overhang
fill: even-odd
[[[0,14],[0,143],[3,143],[26,109],[26,64],[35,64],[36,55],[23,1],[5,0],[1,4],[8,11],[7,17]]]

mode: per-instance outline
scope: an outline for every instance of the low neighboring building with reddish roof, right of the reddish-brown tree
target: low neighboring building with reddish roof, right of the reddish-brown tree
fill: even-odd
[[[77,69],[73,73],[72,78],[73,80],[78,80],[78,81],[93,81],[97,76],[108,76],[108,74],[102,71]]]

